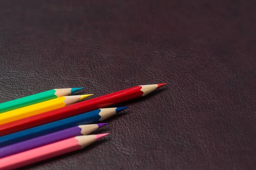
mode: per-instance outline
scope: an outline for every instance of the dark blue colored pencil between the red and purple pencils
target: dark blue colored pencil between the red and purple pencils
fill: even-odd
[[[116,113],[125,110],[126,108],[128,107],[97,109],[95,111],[90,111],[87,113],[58,120],[41,126],[32,127],[30,129],[22,130],[6,136],[1,136],[0,147],[15,144],[18,142],[23,142],[29,139],[57,132],[59,130],[64,130],[77,125],[86,125],[95,122],[101,122],[115,115]]]

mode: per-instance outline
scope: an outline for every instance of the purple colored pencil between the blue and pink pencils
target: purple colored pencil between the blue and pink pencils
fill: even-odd
[[[0,147],[0,158],[24,152],[26,150],[31,150],[36,147],[41,147],[54,142],[62,141],[64,139],[72,138],[75,136],[87,135],[107,124],[108,123],[99,123],[70,127],[65,130],[60,130],[55,133],[50,133],[17,144],[11,144],[6,147]]]

